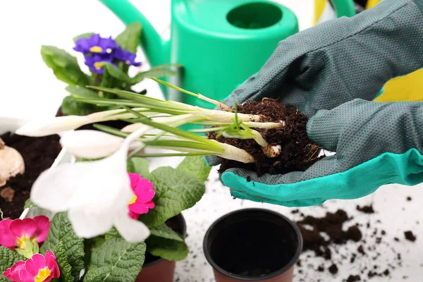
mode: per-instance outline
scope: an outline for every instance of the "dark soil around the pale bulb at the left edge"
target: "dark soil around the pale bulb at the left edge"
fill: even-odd
[[[47,170],[61,151],[59,135],[27,137],[4,133],[0,136],[7,146],[16,149],[25,162],[25,173],[8,180],[0,187],[8,197],[0,197],[0,208],[4,218],[17,219],[23,212],[30,189],[40,173]]]

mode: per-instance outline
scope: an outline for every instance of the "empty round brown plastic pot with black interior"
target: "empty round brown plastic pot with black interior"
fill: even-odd
[[[203,248],[216,282],[291,282],[302,236],[277,212],[241,209],[209,227]]]

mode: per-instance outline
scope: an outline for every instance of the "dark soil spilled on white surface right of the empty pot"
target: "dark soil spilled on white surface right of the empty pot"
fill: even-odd
[[[374,210],[369,213],[369,216],[373,213]],[[325,281],[324,279],[316,280],[316,276],[309,277],[307,274],[309,271],[302,270],[304,267],[308,269],[312,267],[316,269],[316,273],[329,271],[337,279],[338,273],[342,272],[340,269],[347,268],[350,275],[339,277],[336,281],[351,282],[370,281],[370,279],[377,281],[377,277],[391,276],[397,267],[403,266],[402,255],[398,252],[398,248],[386,240],[386,231],[376,227],[381,223],[380,220],[377,220],[374,225],[355,223],[353,216],[348,216],[343,209],[335,213],[327,212],[321,217],[302,215],[298,209],[294,209],[293,214],[300,214],[300,220],[296,222],[302,233],[304,244],[304,253],[297,264],[298,274],[295,276],[297,281]],[[350,226],[351,224],[353,226],[345,228],[343,225],[348,222]],[[405,231],[404,235],[408,238],[407,240],[417,239],[412,231]],[[396,237],[393,239],[399,241]],[[385,257],[384,254],[388,250],[393,252],[393,256]],[[364,257],[367,257],[367,263],[363,264]],[[324,259],[326,263],[322,264],[321,259]]]

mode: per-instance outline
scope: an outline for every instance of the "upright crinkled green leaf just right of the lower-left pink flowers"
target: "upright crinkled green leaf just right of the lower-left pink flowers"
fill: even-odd
[[[79,278],[80,271],[84,267],[84,240],[78,238],[73,232],[66,212],[59,212],[54,215],[50,223],[49,235],[40,251],[44,255],[47,250],[54,250],[56,245],[60,243],[63,243],[69,264],[72,266],[72,276],[75,279]]]

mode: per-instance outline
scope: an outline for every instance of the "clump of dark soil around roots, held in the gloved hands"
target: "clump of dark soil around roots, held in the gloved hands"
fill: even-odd
[[[320,147],[314,144],[306,133],[308,118],[298,109],[285,106],[271,99],[262,102],[245,102],[238,105],[238,113],[262,115],[263,122],[285,121],[286,126],[280,129],[257,129],[269,145],[281,145],[281,154],[276,158],[268,158],[255,140],[239,140],[236,138],[216,137],[217,133],[209,133],[209,138],[218,140],[240,149],[245,149],[255,158],[255,164],[242,164],[238,161],[221,159],[220,171],[241,167],[263,173],[281,174],[291,171],[305,171],[316,162]]]

